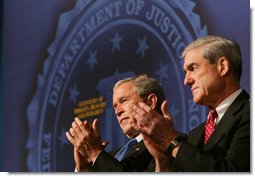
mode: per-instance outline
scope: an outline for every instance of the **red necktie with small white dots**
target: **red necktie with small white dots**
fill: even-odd
[[[217,111],[215,109],[212,109],[209,112],[208,120],[207,120],[206,125],[205,125],[205,140],[204,140],[204,143],[206,143],[208,141],[208,139],[210,138],[212,132],[214,131],[214,129],[215,129],[215,119],[217,117],[218,117]]]

